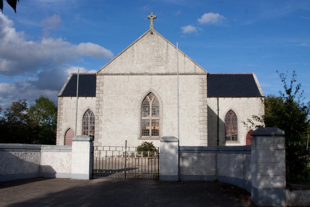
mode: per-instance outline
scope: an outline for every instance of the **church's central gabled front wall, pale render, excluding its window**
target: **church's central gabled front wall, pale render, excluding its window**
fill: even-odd
[[[176,47],[148,30],[97,72],[95,146],[129,146],[178,136]],[[207,73],[180,50],[180,145],[206,146]],[[152,92],[160,104],[160,136],[141,137],[141,105]]]

